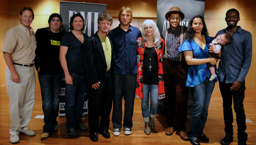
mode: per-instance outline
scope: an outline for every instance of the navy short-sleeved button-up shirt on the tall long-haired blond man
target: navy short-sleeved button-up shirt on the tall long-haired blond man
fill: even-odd
[[[137,38],[141,37],[140,29],[129,26],[125,32],[120,24],[111,30],[108,35],[113,43],[113,51],[116,58],[114,67],[115,74],[136,74],[137,73]]]

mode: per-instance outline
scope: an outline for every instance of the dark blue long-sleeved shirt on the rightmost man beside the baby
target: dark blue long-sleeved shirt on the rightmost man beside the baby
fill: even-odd
[[[216,36],[228,33],[227,28],[220,30]],[[220,81],[226,76],[226,83],[243,82],[252,60],[252,35],[239,29],[232,34],[233,42],[221,49],[221,60],[218,65]]]

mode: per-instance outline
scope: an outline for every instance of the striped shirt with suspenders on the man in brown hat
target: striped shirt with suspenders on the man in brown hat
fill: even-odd
[[[165,40],[167,46],[167,59],[171,61],[180,61],[180,52],[178,51],[180,46],[180,33],[181,33],[181,26],[178,26],[175,30],[171,28],[166,29],[168,30],[167,38]],[[165,39],[166,30],[162,32],[162,38]],[[185,32],[186,27],[183,27],[183,41],[185,40]],[[166,54],[164,51],[163,58],[166,58]]]

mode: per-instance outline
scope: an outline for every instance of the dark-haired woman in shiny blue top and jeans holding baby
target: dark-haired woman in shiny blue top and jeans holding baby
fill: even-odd
[[[190,119],[190,131],[187,135],[192,145],[200,145],[198,139],[209,142],[209,138],[203,133],[207,120],[208,107],[215,81],[209,81],[211,73],[206,63],[216,64],[217,59],[208,58],[209,43],[212,38],[207,36],[207,28],[204,18],[200,15],[192,17],[186,31],[186,41],[179,47],[184,53],[189,65],[186,86],[191,87],[194,95],[194,105]],[[220,54],[219,54],[220,55]]]

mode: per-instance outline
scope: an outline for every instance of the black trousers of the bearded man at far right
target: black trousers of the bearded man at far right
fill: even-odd
[[[236,123],[237,123],[237,136],[239,142],[247,141],[246,124],[245,124],[245,113],[244,113],[244,90],[245,82],[242,82],[241,87],[237,91],[231,91],[230,88],[233,83],[225,83],[219,81],[221,96],[223,100],[223,114],[225,123],[225,133],[227,135],[233,135],[233,112],[232,112],[232,96],[234,102],[234,110],[236,112]]]

